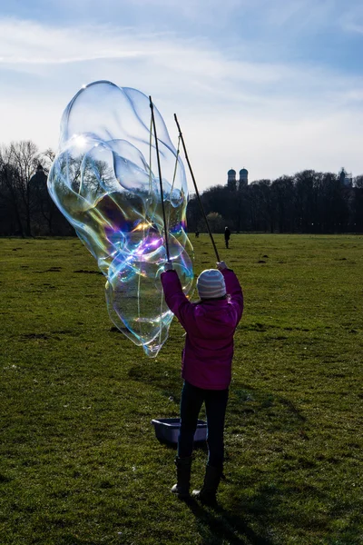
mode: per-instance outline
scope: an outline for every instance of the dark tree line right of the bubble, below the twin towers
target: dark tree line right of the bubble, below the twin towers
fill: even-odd
[[[342,173],[306,170],[240,187],[215,185],[201,203],[214,233],[225,226],[237,233],[363,233],[363,175],[347,185]],[[205,231],[200,210],[194,196],[190,231]]]

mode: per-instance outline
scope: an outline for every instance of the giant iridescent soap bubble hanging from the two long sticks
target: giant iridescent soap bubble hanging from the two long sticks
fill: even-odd
[[[170,257],[188,294],[193,272],[184,230],[185,171],[156,108],[154,116]],[[151,129],[144,94],[106,81],[84,86],[64,110],[48,190],[107,277],[111,320],[154,357],[168,337],[172,312],[160,282],[166,250]]]

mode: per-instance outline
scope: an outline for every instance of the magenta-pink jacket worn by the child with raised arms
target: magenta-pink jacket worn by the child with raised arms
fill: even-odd
[[[231,300],[190,302],[175,271],[162,272],[170,310],[187,332],[182,352],[182,378],[206,390],[224,390],[231,383],[233,334],[243,312],[243,294],[233,271],[222,271]]]

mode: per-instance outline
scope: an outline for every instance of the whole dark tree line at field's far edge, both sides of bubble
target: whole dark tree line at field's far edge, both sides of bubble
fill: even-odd
[[[73,235],[49,196],[54,152],[31,141],[0,146],[0,235]],[[342,175],[306,170],[276,180],[214,185],[201,193],[211,230],[237,233],[363,233],[363,175],[347,186]],[[205,231],[200,203],[191,196],[188,231]]]

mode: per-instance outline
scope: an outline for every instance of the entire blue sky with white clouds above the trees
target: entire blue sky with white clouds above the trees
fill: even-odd
[[[178,114],[201,190],[363,173],[361,0],[13,0],[0,5],[0,143],[57,148],[65,106],[109,80]],[[191,182],[190,182],[191,188]]]

